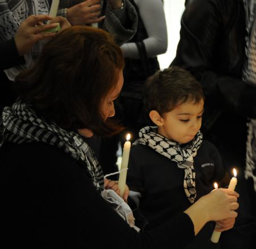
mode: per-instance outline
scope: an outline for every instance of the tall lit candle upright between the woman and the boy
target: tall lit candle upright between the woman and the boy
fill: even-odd
[[[120,196],[123,197],[123,193],[125,193],[125,184],[126,184],[126,175],[128,169],[128,161],[129,161],[129,154],[131,148],[130,134],[127,134],[126,142],[123,145],[123,155],[122,155],[122,163],[120,167],[120,174],[118,179],[118,188],[120,190]]]

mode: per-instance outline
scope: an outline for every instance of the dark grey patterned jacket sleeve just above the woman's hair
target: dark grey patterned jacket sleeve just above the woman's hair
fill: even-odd
[[[133,38],[138,26],[138,16],[133,5],[123,0],[123,9],[112,10],[110,4],[106,6],[105,19],[101,26],[104,30],[114,35],[115,42],[122,45]]]

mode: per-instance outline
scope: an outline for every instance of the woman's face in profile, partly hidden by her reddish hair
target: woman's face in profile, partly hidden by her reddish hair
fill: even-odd
[[[119,96],[123,86],[123,70],[118,69],[117,85],[111,90],[102,103],[102,115],[104,119],[115,115],[114,100]]]

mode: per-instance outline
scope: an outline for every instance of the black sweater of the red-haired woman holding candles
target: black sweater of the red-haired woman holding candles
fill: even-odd
[[[0,165],[1,248],[183,248],[194,238],[184,213],[137,233],[100,196],[86,165],[56,147],[4,143]]]

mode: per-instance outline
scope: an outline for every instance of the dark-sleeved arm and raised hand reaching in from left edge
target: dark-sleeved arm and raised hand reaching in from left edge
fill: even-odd
[[[46,20],[49,20],[51,23],[36,26],[36,24]],[[30,52],[37,42],[55,36],[54,32],[47,33],[43,31],[56,27],[56,22],[61,23],[62,30],[71,26],[61,16],[52,19],[48,15],[31,15],[20,24],[13,38],[0,41],[0,55],[2,58],[0,68],[0,113],[2,113],[3,107],[11,105],[16,98],[13,81],[8,80],[4,70],[24,64],[24,55]]]

